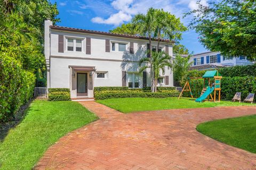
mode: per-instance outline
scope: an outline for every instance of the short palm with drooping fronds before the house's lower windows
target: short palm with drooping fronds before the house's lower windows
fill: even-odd
[[[162,74],[165,74],[166,67],[168,69],[172,68],[171,63],[172,57],[165,52],[152,52],[151,60],[148,57],[141,58],[139,61],[140,66],[140,73],[143,72],[147,68],[153,69],[153,79],[154,79],[154,91],[157,90],[157,79],[159,78],[160,72],[162,71]],[[146,63],[142,66],[142,63]]]

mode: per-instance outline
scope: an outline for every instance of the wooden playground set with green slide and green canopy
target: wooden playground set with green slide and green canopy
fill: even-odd
[[[190,80],[191,79],[204,79],[204,85],[203,89],[201,91],[201,96],[196,99],[196,102],[202,102],[206,98],[209,101],[216,102],[216,94],[218,94],[218,101],[220,101],[220,91],[221,91],[221,78],[218,70],[213,71],[206,71],[203,75],[203,77],[198,78],[188,78],[188,81],[185,83],[185,86],[183,87],[182,91],[180,92],[179,98],[183,94],[184,91],[189,91],[191,98],[193,98],[193,94],[190,88]],[[212,92],[214,91],[214,95],[212,96]],[[211,99],[210,99],[211,97]],[[179,99],[178,98],[178,99]]]

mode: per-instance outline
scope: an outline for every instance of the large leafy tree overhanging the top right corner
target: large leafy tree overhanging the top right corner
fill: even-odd
[[[209,50],[230,58],[256,58],[256,1],[222,0],[199,5],[190,28],[199,33],[199,41]],[[185,16],[186,16],[185,15]]]

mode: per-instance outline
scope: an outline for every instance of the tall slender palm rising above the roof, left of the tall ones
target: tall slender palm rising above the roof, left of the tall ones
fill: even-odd
[[[132,19],[132,24],[134,25],[135,32],[138,32],[139,35],[146,36],[149,39],[149,58],[148,60],[151,63],[151,54],[152,54],[152,45],[151,40],[154,36],[156,30],[156,19],[157,19],[157,10],[153,7],[149,8],[147,14],[137,14]],[[151,77],[151,91],[154,92],[154,70],[150,67],[150,77]]]

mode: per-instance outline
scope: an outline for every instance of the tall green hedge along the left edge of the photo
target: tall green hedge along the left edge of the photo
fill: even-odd
[[[0,55],[0,122],[6,122],[33,97],[35,75],[13,57]]]

